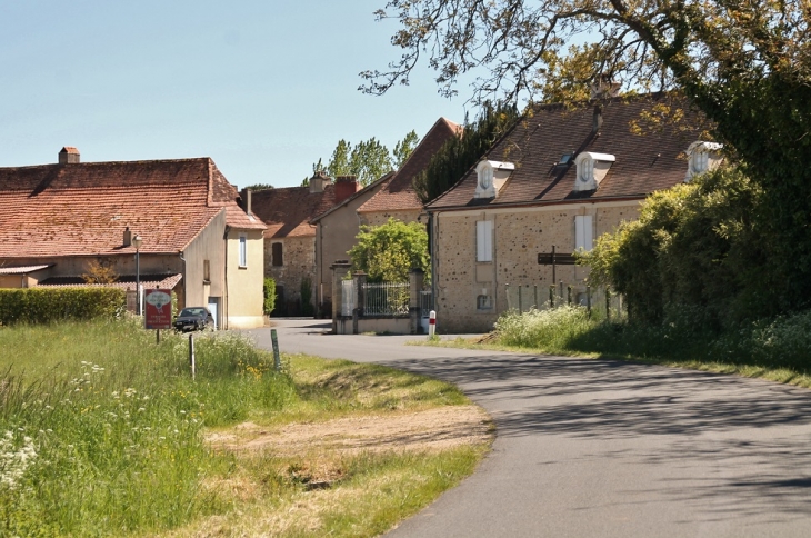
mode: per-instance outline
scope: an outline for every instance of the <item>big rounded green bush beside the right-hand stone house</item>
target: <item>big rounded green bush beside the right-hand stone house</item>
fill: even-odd
[[[757,219],[762,203],[739,169],[719,169],[652,195],[639,220],[600,237],[581,261],[593,283],[625,296],[638,320],[660,322],[682,307],[714,327],[773,316],[779,288],[772,238]]]

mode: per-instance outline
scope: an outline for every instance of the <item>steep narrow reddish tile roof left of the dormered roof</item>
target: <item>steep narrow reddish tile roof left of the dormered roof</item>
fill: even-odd
[[[422,209],[422,201],[414,192],[411,183],[425,169],[431,158],[451,137],[459,134],[462,127],[440,118],[431,127],[403,166],[394,173],[380,191],[367,200],[359,213],[373,211],[392,211],[401,209]]]

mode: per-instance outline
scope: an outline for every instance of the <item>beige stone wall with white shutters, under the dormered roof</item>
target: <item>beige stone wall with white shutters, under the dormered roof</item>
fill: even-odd
[[[433,265],[437,325],[442,332],[484,332],[508,309],[505,285],[552,283],[552,266],[538,263],[540,252],[574,250],[574,217],[591,215],[593,237],[637,218],[639,201],[571,203],[524,209],[482,209],[434,213]],[[477,221],[493,221],[493,261],[477,262]],[[588,268],[557,266],[555,277],[574,292],[584,289]],[[478,297],[489,296],[491,309],[479,309]],[[513,305],[514,306],[514,305]]]

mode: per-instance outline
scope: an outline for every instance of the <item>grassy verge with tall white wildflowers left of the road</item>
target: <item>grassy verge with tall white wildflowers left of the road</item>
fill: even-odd
[[[197,339],[192,381],[187,346],[121,321],[0,328],[0,536],[373,536],[472,472],[489,446],[212,444],[246,424],[384,421],[470,402],[348,361],[284,356],[274,372],[272,356],[228,333]]]

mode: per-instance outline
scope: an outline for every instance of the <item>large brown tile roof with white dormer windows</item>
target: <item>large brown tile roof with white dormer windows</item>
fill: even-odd
[[[515,165],[495,198],[474,199],[475,167],[450,190],[428,205],[429,209],[498,207],[502,205],[559,203],[565,201],[637,198],[684,180],[688,162],[683,152],[699,130],[664,127],[639,136],[630,123],[667,96],[612,99],[603,106],[602,127],[592,133],[593,109],[568,110],[540,106],[499,140],[487,158]],[[683,104],[688,118],[693,112]],[[698,117],[694,117],[698,118]],[[685,126],[689,126],[687,121]],[[610,153],[617,160],[597,190],[574,192],[577,168],[555,167],[561,156],[574,151]],[[572,160],[573,162],[573,157]]]

